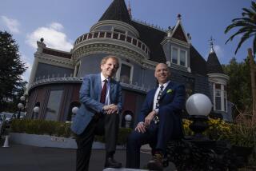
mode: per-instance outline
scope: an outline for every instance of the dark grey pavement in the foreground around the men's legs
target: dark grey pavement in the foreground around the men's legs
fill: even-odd
[[[141,153],[141,165],[150,160],[149,153]],[[126,165],[126,151],[118,150],[115,158]],[[104,150],[93,150],[90,157],[90,171],[102,171]],[[141,166],[143,168],[143,166]],[[42,148],[30,145],[0,147],[1,171],[73,171],[75,170],[75,149]],[[166,168],[166,171],[173,169]]]

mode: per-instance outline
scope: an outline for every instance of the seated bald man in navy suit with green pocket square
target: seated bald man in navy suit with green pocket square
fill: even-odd
[[[170,82],[170,70],[159,63],[154,72],[158,87],[150,90],[138,116],[138,125],[127,141],[126,167],[138,169],[140,148],[149,144],[153,158],[148,169],[162,170],[162,158],[166,153],[166,143],[182,137],[181,112],[185,105],[185,86]]]

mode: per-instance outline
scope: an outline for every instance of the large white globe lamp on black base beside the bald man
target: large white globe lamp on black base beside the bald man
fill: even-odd
[[[202,139],[204,136],[202,132],[205,131],[209,125],[207,115],[210,113],[212,103],[205,94],[194,93],[186,101],[186,111],[190,114],[190,129],[194,132],[195,139]]]

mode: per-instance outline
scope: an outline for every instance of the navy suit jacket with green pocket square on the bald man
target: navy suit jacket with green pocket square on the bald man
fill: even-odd
[[[144,121],[145,117],[153,110],[154,93],[156,89],[151,89],[144,101],[141,113],[138,116],[138,122]],[[184,109],[186,101],[185,86],[178,83],[170,82],[162,93],[159,101],[158,113],[167,113],[180,116],[182,109]]]

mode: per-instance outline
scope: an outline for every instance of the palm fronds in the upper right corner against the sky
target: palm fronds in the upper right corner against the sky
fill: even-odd
[[[242,46],[242,43],[248,40],[249,38],[254,38],[253,41],[253,50],[254,54],[256,53],[256,3],[251,2],[251,9],[242,8],[242,18],[234,18],[232,20],[232,24],[226,27],[225,34],[227,34],[230,30],[234,28],[239,28],[238,31],[230,36],[230,38],[226,41],[230,42],[234,37],[242,34],[242,38],[238,43],[238,47],[235,50],[234,54],[237,54],[238,49]]]

